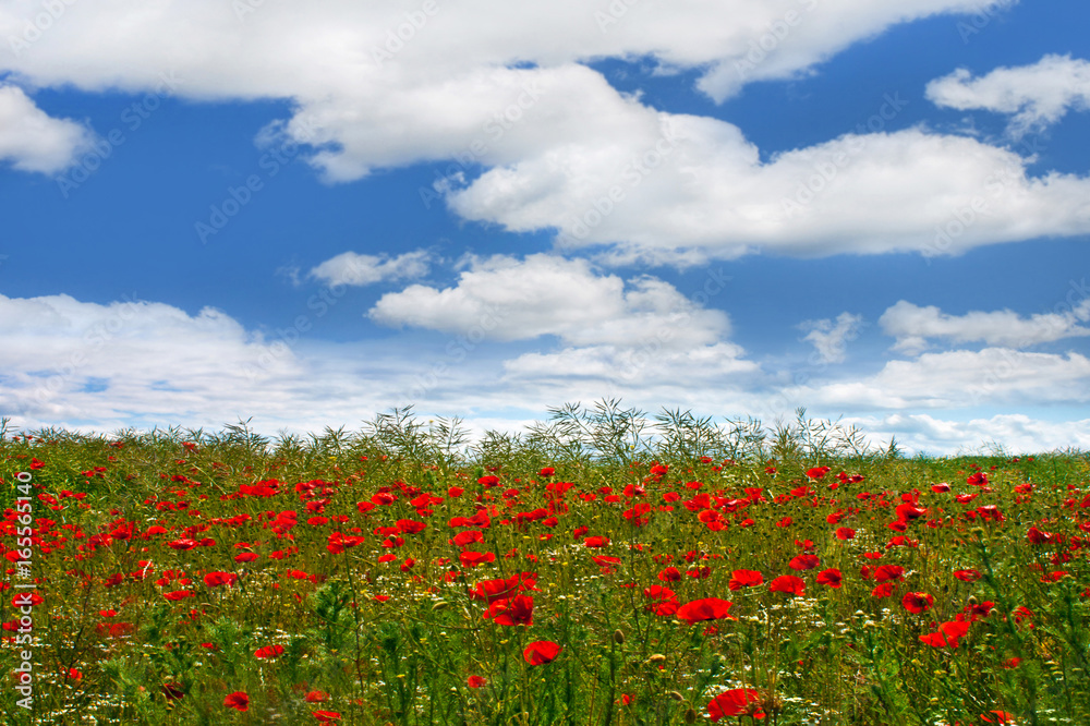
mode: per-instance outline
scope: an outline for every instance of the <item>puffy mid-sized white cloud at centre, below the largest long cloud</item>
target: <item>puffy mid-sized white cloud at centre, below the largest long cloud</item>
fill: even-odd
[[[413,285],[387,293],[368,316],[477,339],[553,335],[572,346],[633,347],[657,337],[669,348],[691,348],[715,343],[730,328],[725,313],[695,305],[659,279],[626,282],[595,274],[585,259],[544,254],[472,259],[456,287]]]

